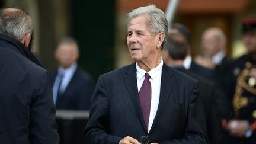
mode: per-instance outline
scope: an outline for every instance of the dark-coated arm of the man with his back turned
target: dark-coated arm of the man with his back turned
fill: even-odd
[[[47,72],[37,76],[39,87],[31,98],[30,129],[32,143],[59,143],[52,87]]]

